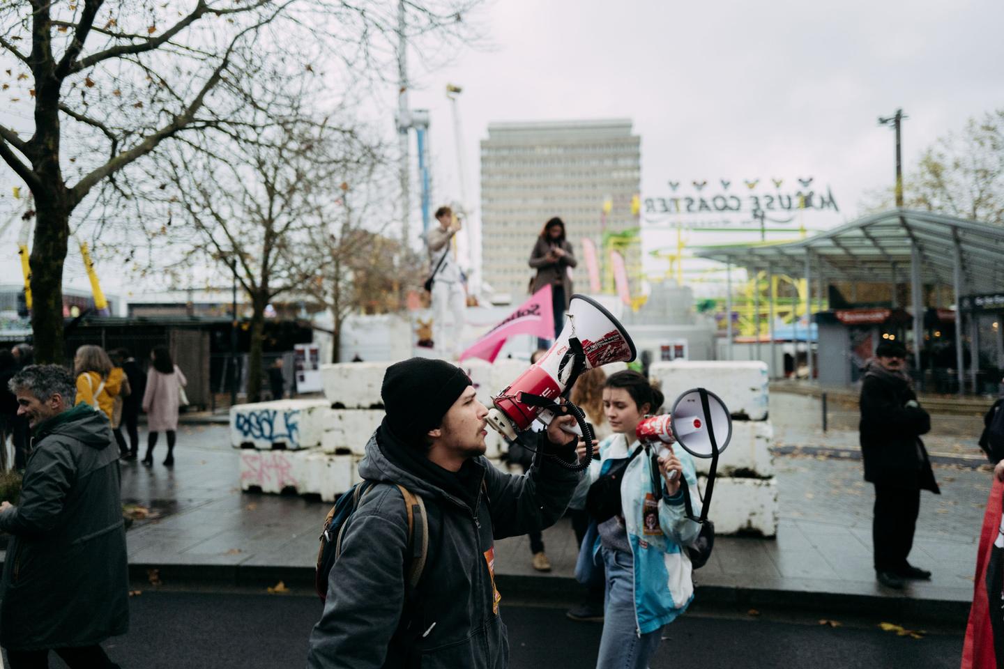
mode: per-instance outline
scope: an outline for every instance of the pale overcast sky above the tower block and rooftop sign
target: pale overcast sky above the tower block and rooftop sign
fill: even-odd
[[[812,176],[831,187],[839,223],[856,217],[867,191],[893,184],[893,132],[877,116],[897,107],[910,116],[909,170],[938,136],[1004,106],[1000,0],[498,0],[473,19],[486,39],[448,65],[426,71],[412,57],[412,106],[432,115],[437,203],[459,199],[448,82],[464,88],[476,209],[489,122],[623,117],[642,137],[643,197],[668,195],[667,181]],[[0,281],[17,282],[5,237]],[[86,286],[82,272],[69,274]]]

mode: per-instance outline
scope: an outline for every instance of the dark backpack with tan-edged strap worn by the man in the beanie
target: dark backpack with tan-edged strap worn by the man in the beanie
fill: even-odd
[[[341,538],[345,528],[358,508],[359,501],[374,485],[375,483],[369,480],[356,483],[338,497],[324,519],[314,574],[314,588],[321,601],[327,599],[327,577],[334,563],[338,562],[338,556],[341,555]],[[426,566],[426,556],[429,553],[429,519],[426,516],[426,504],[421,495],[414,494],[404,485],[398,485],[398,489],[405,497],[405,509],[408,512],[408,552],[411,561],[408,568],[408,586],[414,591],[419,585],[419,579],[422,578],[422,570]]]

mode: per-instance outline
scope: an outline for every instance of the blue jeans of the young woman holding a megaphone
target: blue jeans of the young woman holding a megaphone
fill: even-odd
[[[602,552],[606,565],[606,605],[596,669],[646,669],[659,648],[663,630],[639,636],[632,555],[606,547]]]

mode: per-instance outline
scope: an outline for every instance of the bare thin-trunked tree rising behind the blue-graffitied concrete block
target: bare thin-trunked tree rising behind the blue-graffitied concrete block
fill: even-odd
[[[250,298],[248,399],[255,402],[266,307],[316,282],[319,268],[301,259],[324,235],[342,176],[371,161],[372,149],[355,130],[312,122],[295,103],[271,125],[252,125],[265,129],[180,145],[164,166],[173,185],[166,197],[182,213],[172,227],[185,240],[179,264],[225,263]]]

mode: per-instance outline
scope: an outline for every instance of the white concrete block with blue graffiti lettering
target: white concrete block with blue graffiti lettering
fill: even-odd
[[[230,445],[286,450],[320,445],[324,431],[324,399],[279,399],[230,407]]]

